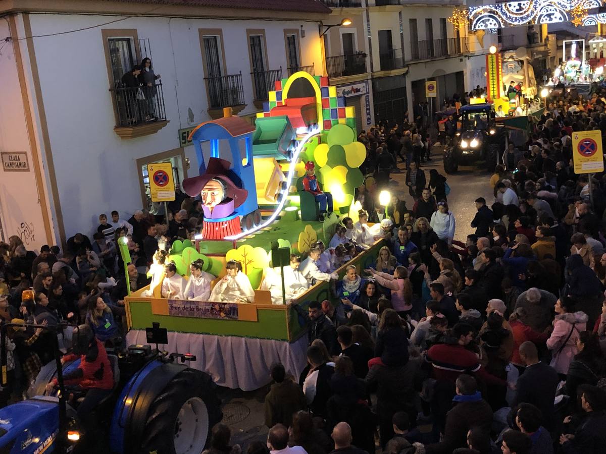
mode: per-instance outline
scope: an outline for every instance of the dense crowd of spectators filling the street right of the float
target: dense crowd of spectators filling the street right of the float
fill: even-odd
[[[309,324],[308,365],[300,377],[272,370],[270,438],[287,431],[308,453],[338,452],[343,430],[356,452],[375,452],[376,433],[398,454],[603,452],[606,180],[574,174],[571,136],[606,134],[606,112],[578,102],[554,100],[527,143],[504,145],[466,238],[444,186],[418,173],[427,155],[404,145],[416,125],[359,139],[371,163],[356,200],[393,231],[373,267],[347,266],[336,305],[293,303]],[[378,209],[398,157],[414,206],[393,197]],[[329,246],[363,250],[366,220],[342,219]],[[321,266],[318,252],[308,260]]]

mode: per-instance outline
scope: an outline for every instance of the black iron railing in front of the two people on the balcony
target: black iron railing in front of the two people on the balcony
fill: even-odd
[[[110,93],[118,113],[116,126],[137,126],[166,119],[162,82],[151,87],[110,88]]]

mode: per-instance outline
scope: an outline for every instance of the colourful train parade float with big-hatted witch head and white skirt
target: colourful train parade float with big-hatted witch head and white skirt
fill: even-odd
[[[162,298],[159,286],[125,298],[128,344],[145,344],[145,327],[159,322],[168,329],[162,348],[196,355],[191,367],[210,373],[221,386],[244,390],[268,383],[274,363],[297,377],[305,366],[305,321],[290,304],[271,304],[262,284],[273,267],[288,265],[290,254],[305,258],[318,240],[328,246],[339,216],[350,212],[355,188],[364,182],[359,166],[366,153],[356,140],[354,108],[345,107],[328,77],[301,71],[275,85],[255,126],[227,109],[224,117],[192,131],[199,176],[184,180],[183,188],[201,195],[204,227],[195,242],[176,241],[168,252],[179,275],[189,279],[190,265],[202,264],[213,286],[235,260],[254,302]],[[330,192],[331,210],[305,187],[309,179]],[[368,268],[382,243],[349,263],[358,272]],[[336,271],[339,277],[344,268]],[[318,281],[292,303],[336,304],[331,285]]]

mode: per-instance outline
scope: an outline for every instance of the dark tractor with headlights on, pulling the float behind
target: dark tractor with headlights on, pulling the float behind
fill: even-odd
[[[456,173],[461,165],[484,161],[486,169],[493,171],[498,164],[499,151],[504,143],[502,128],[498,128],[491,104],[465,105],[459,110],[461,129],[444,154],[444,171]]]

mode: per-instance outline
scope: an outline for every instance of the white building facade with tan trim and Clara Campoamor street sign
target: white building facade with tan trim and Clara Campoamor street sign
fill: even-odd
[[[313,0],[15,3],[0,1],[15,12],[0,21],[0,228],[28,249],[147,208],[148,163],[170,160],[176,182],[197,174],[191,128],[224,107],[252,118],[275,80],[325,73],[330,10]],[[141,96],[122,75],[144,58],[161,77]]]

